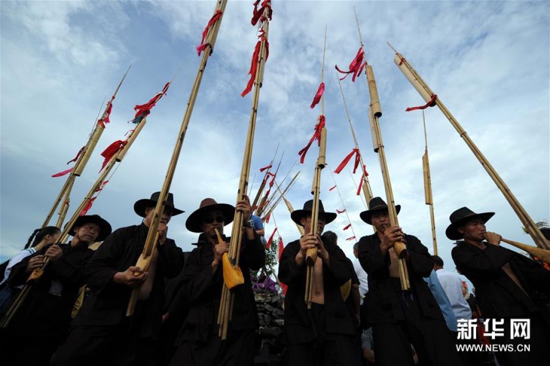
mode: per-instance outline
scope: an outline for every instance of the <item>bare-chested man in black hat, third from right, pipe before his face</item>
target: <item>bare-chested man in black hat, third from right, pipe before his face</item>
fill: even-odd
[[[353,266],[342,249],[333,243],[323,243],[324,226],[334,221],[336,214],[324,212],[319,201],[317,233],[311,233],[313,200],[295,210],[292,220],[304,226],[306,234],[289,243],[279,262],[279,280],[288,286],[284,299],[285,349],[282,365],[353,365],[355,321],[342,299],[340,286],[351,278]],[[305,253],[317,248],[313,271],[311,309],[305,303]]]

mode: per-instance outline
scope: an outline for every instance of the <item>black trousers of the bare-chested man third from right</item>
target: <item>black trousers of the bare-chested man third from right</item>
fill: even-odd
[[[324,305],[311,304],[311,316],[317,338],[306,343],[287,345],[282,366],[354,366],[360,364],[353,335],[329,334],[324,321]]]

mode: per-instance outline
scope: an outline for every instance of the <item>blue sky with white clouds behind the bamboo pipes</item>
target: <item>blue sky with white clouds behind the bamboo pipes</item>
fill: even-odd
[[[252,1],[230,1],[215,52],[206,68],[183,144],[171,191],[178,207],[169,236],[184,250],[196,234],[185,220],[202,198],[234,204],[248,127],[251,94],[241,97],[257,29],[250,25]],[[114,101],[111,124],[76,180],[73,209],[97,178],[100,152],[122,139],[135,104],[145,103],[177,70],[168,95],[153,109],[129,155],[91,213],[113,228],[135,225],[134,201],[160,190],[200,58],[195,46],[212,16],[212,1],[2,1],[1,4],[1,252],[20,250],[40,227],[67,168],[84,145],[101,103],[131,70]],[[393,63],[389,41],[422,75],[509,185],[533,220],[549,213],[549,3],[433,1],[274,1],[270,58],[260,95],[252,176],[269,163],[280,144],[284,175],[310,139],[318,108],[309,105],[320,82],[324,27],[326,53],[327,162],[334,168],[353,148],[334,64],[346,68],[359,41],[356,8],[372,65],[383,117],[395,200],[406,233],[431,249],[430,214],[424,204],[420,112],[423,104]],[[364,75],[343,81],[351,120],[375,195],[384,196],[377,155],[368,127]],[[504,196],[438,108],[426,110],[439,253],[452,265],[445,238],[449,214],[461,206],[497,214],[488,230],[532,243]],[[288,198],[295,208],[310,199],[314,146]],[[357,237],[372,233],[359,218],[364,204],[355,195],[349,167],[335,176]],[[254,192],[259,181],[256,177]],[[252,181],[252,177],[250,177]],[[327,210],[342,209],[331,174],[322,174]],[[72,210],[69,210],[72,214]],[[274,217],[285,243],[298,238],[284,204]],[[52,220],[53,221],[53,220]],[[54,222],[54,221],[53,221]],[[352,256],[345,215],[327,226]],[[273,231],[266,226],[266,235]],[[230,230],[227,227],[226,230]]]

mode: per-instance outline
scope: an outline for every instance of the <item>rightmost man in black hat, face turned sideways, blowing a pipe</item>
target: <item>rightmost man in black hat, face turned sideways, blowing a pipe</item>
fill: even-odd
[[[501,237],[486,231],[485,223],[493,215],[494,212],[476,214],[462,207],[450,215],[445,234],[451,240],[464,239],[453,248],[453,260],[474,284],[477,304],[489,325],[486,335],[496,333],[490,342],[514,345],[514,351],[494,352],[498,363],[536,364],[547,358],[550,349],[550,314],[545,304],[550,294],[550,271],[501,247]],[[514,336],[511,323],[516,319],[529,320],[530,339],[521,333]],[[529,352],[517,352],[518,345],[530,345]]]

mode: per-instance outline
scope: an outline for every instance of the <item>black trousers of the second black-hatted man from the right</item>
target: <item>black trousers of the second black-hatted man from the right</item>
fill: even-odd
[[[425,318],[414,293],[399,298],[405,321],[372,325],[376,366],[413,366],[411,344],[422,366],[463,365],[445,322]]]

